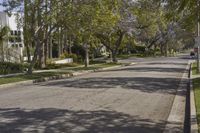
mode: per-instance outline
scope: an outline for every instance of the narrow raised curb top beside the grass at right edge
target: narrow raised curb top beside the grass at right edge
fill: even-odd
[[[198,133],[197,114],[195,106],[194,89],[192,82],[192,64],[190,65],[190,133]]]

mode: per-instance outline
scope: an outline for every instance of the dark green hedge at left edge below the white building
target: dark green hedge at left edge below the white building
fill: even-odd
[[[0,74],[12,74],[21,73],[25,69],[23,64],[11,63],[11,62],[0,62]]]

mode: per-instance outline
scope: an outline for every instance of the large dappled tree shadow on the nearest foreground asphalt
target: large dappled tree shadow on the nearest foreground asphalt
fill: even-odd
[[[115,111],[0,109],[1,133],[161,133],[165,121]]]

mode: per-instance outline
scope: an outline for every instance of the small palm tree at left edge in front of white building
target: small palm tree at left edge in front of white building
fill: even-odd
[[[1,61],[4,61],[4,44],[3,42],[8,39],[8,33],[10,28],[8,26],[0,27],[0,49],[1,49]]]

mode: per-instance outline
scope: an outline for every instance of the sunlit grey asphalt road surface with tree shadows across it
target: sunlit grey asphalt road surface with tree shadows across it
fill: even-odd
[[[185,58],[0,89],[0,133],[162,133]]]

